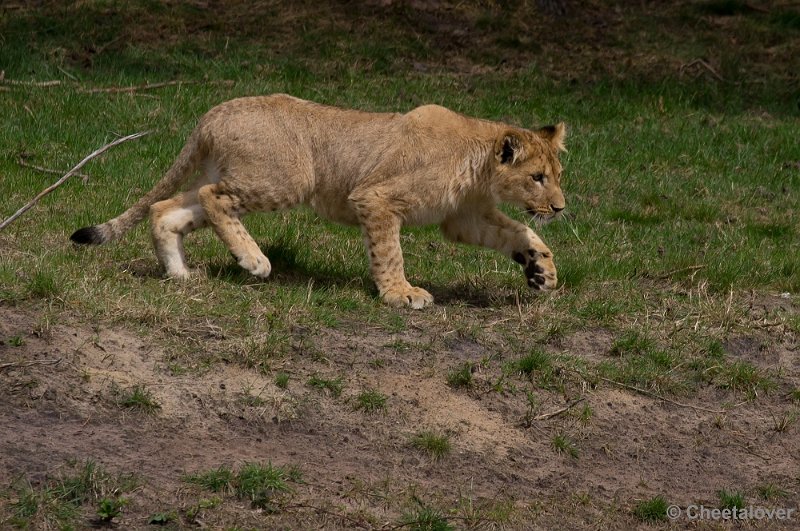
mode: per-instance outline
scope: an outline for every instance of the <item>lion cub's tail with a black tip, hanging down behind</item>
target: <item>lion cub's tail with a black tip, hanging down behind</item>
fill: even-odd
[[[199,137],[195,129],[166,175],[135,205],[101,225],[76,230],[69,239],[75,243],[99,245],[121,238],[147,216],[150,205],[171,197],[197,170],[206,155]]]

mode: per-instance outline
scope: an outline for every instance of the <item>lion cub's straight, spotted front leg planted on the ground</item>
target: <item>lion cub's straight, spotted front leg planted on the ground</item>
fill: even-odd
[[[403,251],[400,248],[400,218],[386,205],[368,205],[353,201],[364,231],[369,255],[370,272],[383,301],[391,306],[424,308],[433,303],[433,295],[412,286],[403,270]]]

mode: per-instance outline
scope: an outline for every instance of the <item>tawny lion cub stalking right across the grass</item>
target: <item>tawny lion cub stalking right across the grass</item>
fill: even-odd
[[[406,224],[439,223],[445,237],[496,249],[524,266],[529,286],[552,289],[552,253],[496,205],[518,205],[540,219],[564,209],[558,160],[564,136],[563,123],[529,131],[437,105],[398,114],[283,94],[235,99],[203,116],[164,178],[135,205],[71,239],[119,238],[149,210],[167,276],[189,276],[183,238],[210,225],[239,265],[265,278],[269,259],[240,218],[306,203],[321,216],[361,226],[372,277],[388,304],[433,302],[406,280],[400,249]]]

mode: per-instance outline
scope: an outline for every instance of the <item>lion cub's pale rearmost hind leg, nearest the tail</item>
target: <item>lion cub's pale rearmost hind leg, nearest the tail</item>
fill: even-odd
[[[183,238],[206,225],[206,214],[200,206],[197,192],[185,192],[159,201],[150,207],[150,230],[156,256],[168,277],[187,278]]]

